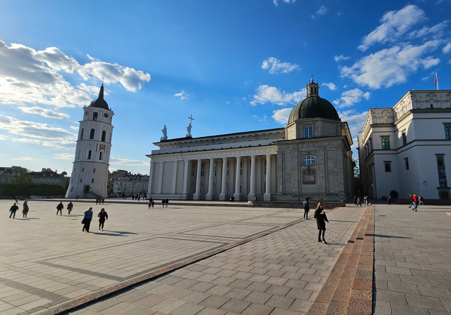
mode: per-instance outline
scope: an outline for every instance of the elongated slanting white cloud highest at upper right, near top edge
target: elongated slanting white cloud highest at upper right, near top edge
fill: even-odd
[[[382,24],[365,36],[362,40],[362,45],[358,48],[365,51],[376,43],[393,43],[415,24],[425,19],[424,11],[414,4],[406,5],[399,11],[388,11],[380,20]]]

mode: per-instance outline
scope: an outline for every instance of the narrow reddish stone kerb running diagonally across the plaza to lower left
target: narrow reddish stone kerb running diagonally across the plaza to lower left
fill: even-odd
[[[330,210],[325,210],[324,212],[327,213],[327,212],[330,212],[330,211],[333,211],[333,210],[336,210],[336,209],[339,209],[339,208],[341,208],[341,207],[336,207],[336,208],[333,208],[333,209],[330,209]],[[99,291],[96,291],[96,292],[93,292],[93,293],[89,293],[89,294],[85,295],[84,297],[76,298],[76,299],[74,299],[72,301],[69,301],[69,302],[66,302],[66,303],[64,303],[62,305],[55,306],[55,307],[53,307],[51,309],[47,309],[47,310],[45,310],[43,312],[40,312],[39,315],[63,315],[63,314],[66,314],[69,311],[76,310],[76,309],[78,309],[80,307],[83,307],[83,306],[86,306],[88,304],[91,304],[92,302],[97,302],[97,301],[99,301],[101,299],[104,299],[104,298],[109,297],[111,295],[114,295],[116,293],[120,293],[120,292],[122,292],[122,291],[124,291],[124,290],[126,290],[128,288],[132,288],[133,286],[136,286],[138,284],[142,284],[142,283],[144,283],[144,282],[146,282],[148,280],[151,280],[151,279],[156,278],[158,276],[164,275],[164,274],[169,273],[171,271],[174,271],[176,269],[179,269],[179,268],[182,268],[182,267],[187,266],[189,264],[192,264],[193,262],[200,261],[200,260],[205,259],[207,257],[211,257],[213,255],[216,255],[216,254],[220,253],[220,252],[224,252],[227,249],[230,249],[230,248],[233,248],[233,247],[237,247],[237,246],[242,245],[244,243],[248,243],[248,242],[250,242],[250,241],[252,241],[252,240],[254,240],[256,238],[260,238],[262,236],[274,233],[274,232],[279,231],[281,229],[285,229],[287,227],[295,225],[295,224],[297,224],[299,222],[303,222],[305,220],[306,219],[299,219],[299,220],[292,221],[292,222],[290,222],[290,223],[288,223],[286,225],[281,225],[281,226],[276,227],[274,229],[266,230],[264,232],[255,234],[255,235],[253,235],[253,236],[251,236],[249,238],[245,238],[245,239],[242,239],[242,240],[240,240],[238,242],[222,246],[220,248],[214,249],[214,250],[206,252],[204,254],[201,254],[201,255],[198,255],[198,256],[194,256],[192,258],[186,259],[186,260],[181,261],[179,263],[175,263],[173,265],[166,266],[166,267],[158,269],[158,270],[154,270],[154,271],[149,272],[149,273],[147,273],[145,275],[140,275],[140,276],[138,276],[136,278],[129,279],[129,280],[121,282],[119,284],[115,284],[115,285],[112,285],[110,287],[101,289]]]

